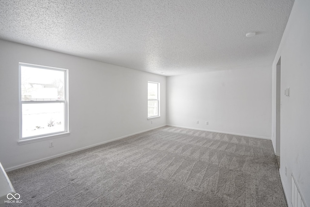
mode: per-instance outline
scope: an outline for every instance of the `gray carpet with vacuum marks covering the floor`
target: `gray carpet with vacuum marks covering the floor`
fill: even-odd
[[[270,140],[177,127],[8,175],[25,207],[287,207]]]

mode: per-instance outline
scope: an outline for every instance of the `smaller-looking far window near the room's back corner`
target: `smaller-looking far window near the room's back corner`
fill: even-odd
[[[147,98],[147,117],[159,116],[159,83],[148,81]]]

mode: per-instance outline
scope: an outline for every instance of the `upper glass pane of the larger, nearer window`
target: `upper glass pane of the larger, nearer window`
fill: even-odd
[[[64,100],[64,71],[20,66],[21,100]]]

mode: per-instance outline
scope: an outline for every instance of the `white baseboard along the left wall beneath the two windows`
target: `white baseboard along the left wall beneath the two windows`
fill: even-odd
[[[101,143],[96,143],[96,144],[92,144],[92,145],[89,145],[89,146],[81,147],[81,148],[78,148],[78,149],[75,149],[75,150],[71,150],[71,151],[68,151],[68,152],[64,152],[64,153],[61,153],[61,154],[58,154],[58,155],[54,155],[54,156],[51,156],[51,157],[48,157],[48,158],[38,159],[38,160],[27,162],[27,163],[24,163],[24,164],[20,164],[20,165],[16,165],[16,166],[13,166],[13,167],[5,168],[4,170],[5,170],[5,172],[10,172],[12,170],[16,170],[16,169],[19,169],[19,168],[27,167],[29,165],[37,164],[39,162],[44,162],[44,161],[49,160],[49,159],[54,159],[54,158],[62,157],[64,155],[68,155],[68,154],[71,154],[71,153],[74,153],[74,152],[78,152],[78,151],[81,151],[81,150],[84,150],[84,149],[88,149],[88,148],[91,148],[91,147],[94,147],[94,146],[98,146],[98,145],[101,145],[101,144],[110,143],[110,142],[113,142],[113,141],[116,141],[116,140],[121,140],[121,139],[124,139],[126,137],[130,137],[130,136],[133,136],[133,135],[136,135],[136,134],[140,134],[140,133],[143,133],[143,132],[146,132],[146,131],[150,131],[150,130],[153,130],[153,129],[156,129],[156,128],[160,128],[160,127],[165,127],[165,126],[166,125],[162,125],[162,126],[159,126],[159,127],[154,127],[154,128],[146,129],[146,130],[139,131],[139,132],[136,132],[136,133],[133,133],[133,134],[125,135],[123,137],[118,137],[118,138],[115,138],[115,139],[112,139],[112,140],[109,140],[109,141],[105,141],[105,142],[101,142]]]

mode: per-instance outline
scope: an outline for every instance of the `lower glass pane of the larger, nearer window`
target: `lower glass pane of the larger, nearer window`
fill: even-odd
[[[22,137],[64,131],[64,103],[22,104]]]

